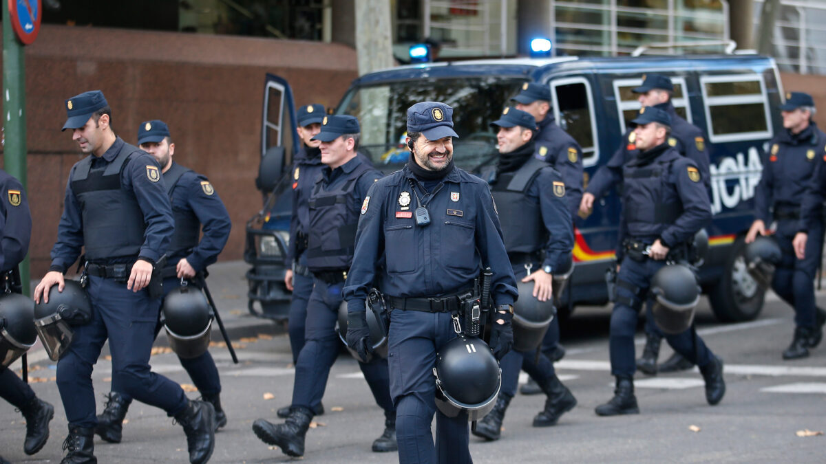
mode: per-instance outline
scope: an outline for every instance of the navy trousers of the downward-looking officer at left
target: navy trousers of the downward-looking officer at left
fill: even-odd
[[[147,405],[178,414],[188,400],[181,386],[150,371],[150,351],[158,323],[160,299],[126,283],[89,277],[92,320],[74,328],[74,340],[57,363],[57,386],[71,426],[95,427],[92,369],[109,339],[112,385]]]

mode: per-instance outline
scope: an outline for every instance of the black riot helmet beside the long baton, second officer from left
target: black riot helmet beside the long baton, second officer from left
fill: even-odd
[[[201,289],[182,285],[169,291],[164,296],[163,315],[169,348],[179,357],[198,357],[207,351],[212,312]]]

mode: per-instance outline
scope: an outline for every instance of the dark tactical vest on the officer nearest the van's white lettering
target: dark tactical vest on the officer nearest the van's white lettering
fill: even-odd
[[[623,214],[632,238],[656,238],[682,214],[678,197],[671,195],[672,201],[663,202],[674,161],[672,157],[660,155],[644,166],[634,162],[624,165]]]

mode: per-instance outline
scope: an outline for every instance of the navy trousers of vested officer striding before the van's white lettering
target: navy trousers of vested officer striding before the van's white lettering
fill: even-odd
[[[625,281],[638,286],[644,291],[644,294],[641,300],[629,289],[616,286],[617,296],[622,295],[634,300],[635,307],[632,308],[625,303],[618,302],[611,312],[610,358],[611,374],[615,376],[634,376],[637,369],[634,362],[634,331],[637,328],[638,308],[648,299],[648,287],[651,277],[665,265],[664,260],[645,259],[643,262],[638,262],[625,257],[622,261],[617,281]],[[704,367],[711,361],[713,356],[711,350],[706,348],[705,343],[696,334],[693,327],[681,334],[666,334],[665,339],[674,351],[699,367]]]

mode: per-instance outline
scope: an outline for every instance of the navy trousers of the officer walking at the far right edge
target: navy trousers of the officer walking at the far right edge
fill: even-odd
[[[820,263],[820,249],[823,245],[823,225],[818,222],[809,230],[806,241],[805,258],[798,259],[791,242],[800,221],[783,219],[777,221],[775,239],[783,252],[783,259],[771,279],[771,288],[783,301],[795,308],[795,325],[814,328],[816,305],[814,301],[814,277]]]

